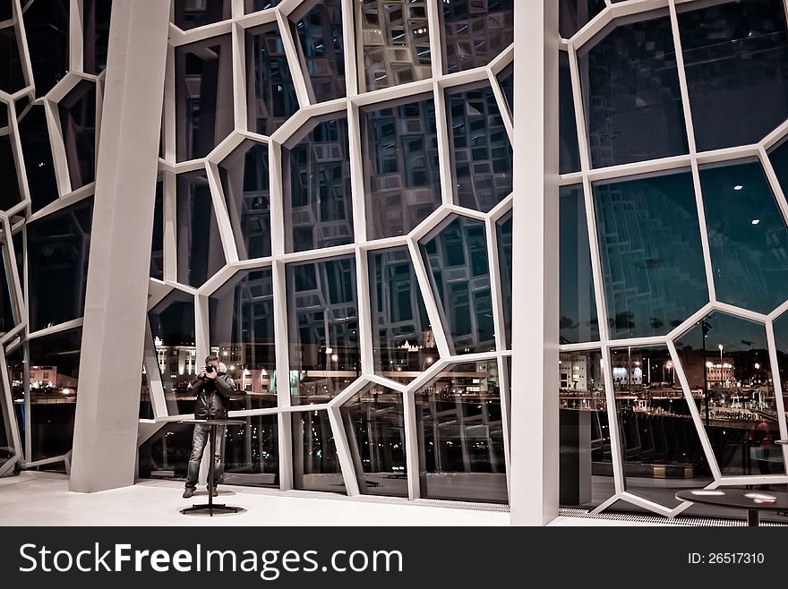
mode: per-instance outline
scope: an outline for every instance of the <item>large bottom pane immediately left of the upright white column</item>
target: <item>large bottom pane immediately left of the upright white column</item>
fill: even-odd
[[[454,364],[415,392],[422,497],[506,503],[494,360]]]

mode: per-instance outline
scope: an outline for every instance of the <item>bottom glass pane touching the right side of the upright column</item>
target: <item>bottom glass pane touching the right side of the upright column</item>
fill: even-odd
[[[596,508],[615,494],[602,353],[561,353],[562,506]]]

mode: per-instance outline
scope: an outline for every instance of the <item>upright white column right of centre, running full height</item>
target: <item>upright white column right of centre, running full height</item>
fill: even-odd
[[[515,3],[510,506],[558,516],[558,3]]]

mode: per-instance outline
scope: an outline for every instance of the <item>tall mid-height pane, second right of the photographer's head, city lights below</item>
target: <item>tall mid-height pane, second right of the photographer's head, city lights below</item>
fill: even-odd
[[[287,264],[293,405],[325,403],[361,375],[355,258]]]

